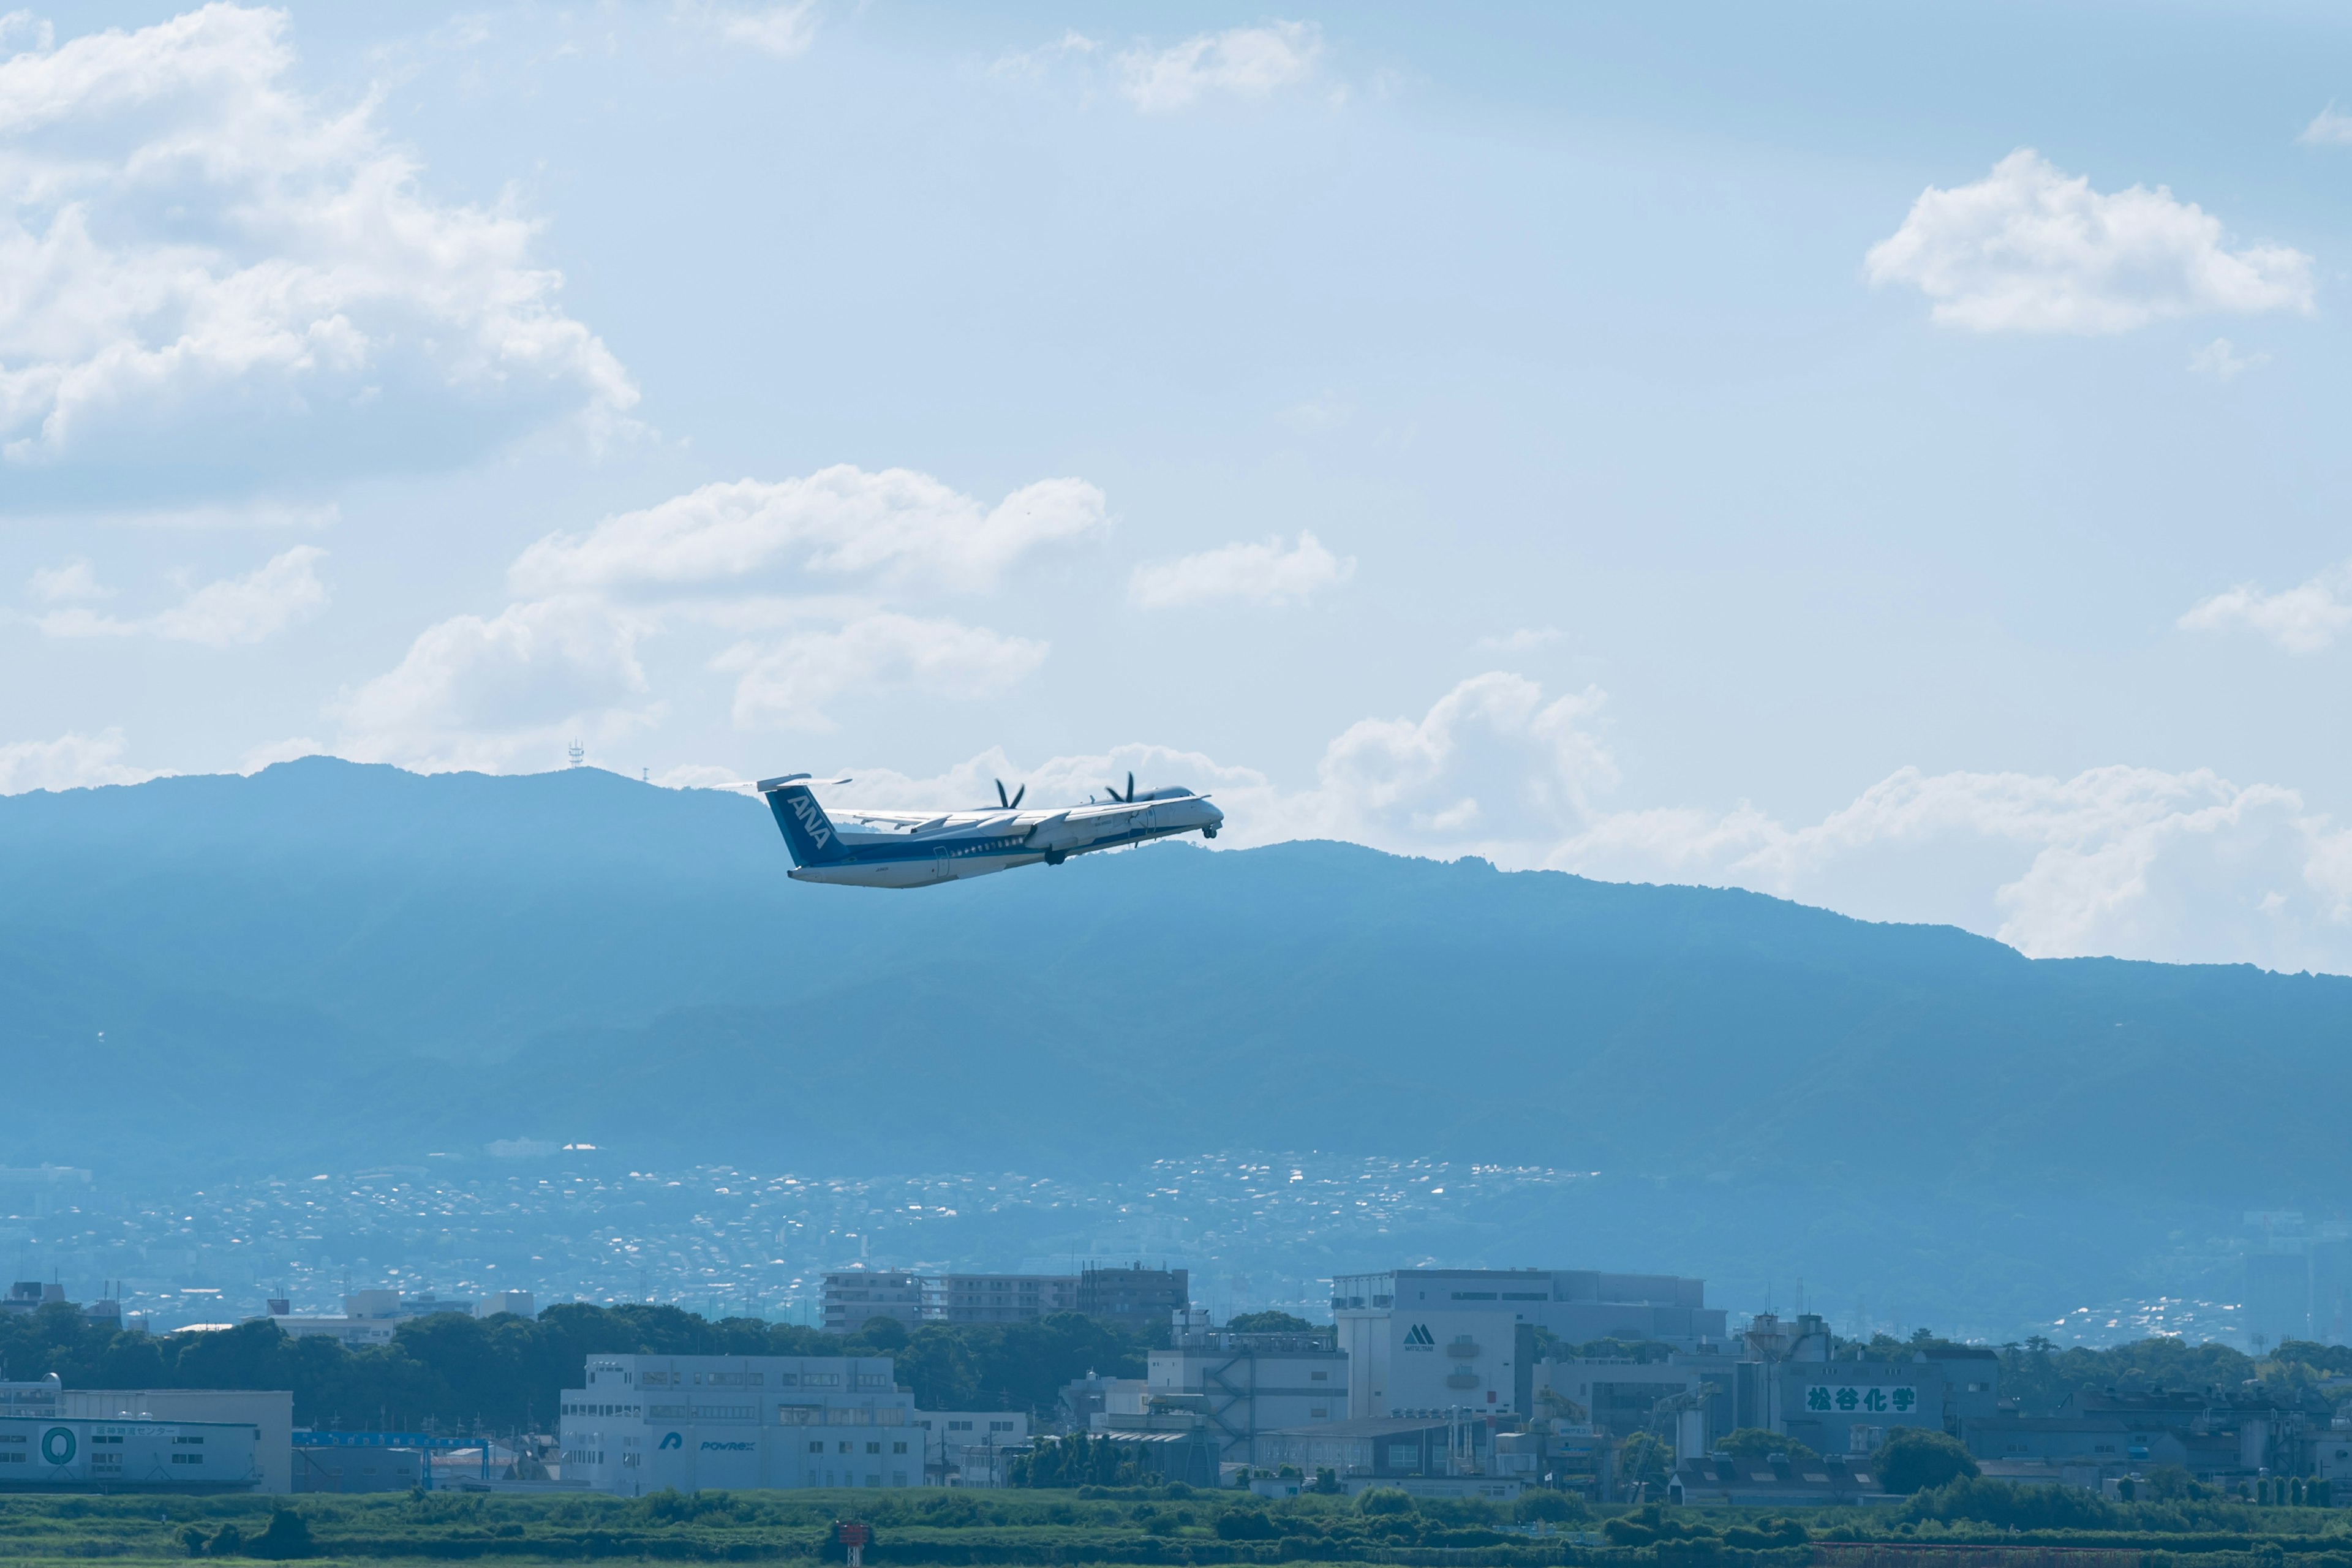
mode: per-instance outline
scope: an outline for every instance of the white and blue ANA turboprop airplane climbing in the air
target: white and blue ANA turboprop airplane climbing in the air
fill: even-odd
[[[997,804],[978,811],[842,811],[835,823],[816,804],[814,790],[837,783],[849,780],[786,773],[755,785],[783,827],[795,882],[931,886],[1040,860],[1061,865],[1091,849],[1143,844],[1195,827],[1200,837],[1214,839],[1225,820],[1207,795],[1181,788],[1138,792],[1136,776],[1129,773],[1124,795],[1112,788],[1108,802],[1084,806],[1023,811],[1028,785],[1007,795],[1004,780],[997,780]]]

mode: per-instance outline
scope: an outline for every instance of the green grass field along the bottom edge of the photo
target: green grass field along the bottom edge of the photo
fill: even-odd
[[[0,1500],[0,1563],[191,1559],[524,1568],[842,1561],[840,1519],[873,1530],[877,1568],[1021,1563],[1404,1563],[1411,1568],[2352,1568],[2352,1512],[2234,1502],[2070,1500],[2074,1528],[1938,1516],[1933,1495],[1889,1509],[1757,1516],[1750,1509],[1597,1509],[1555,1495],[1381,1502],[1145,1488],[663,1493],[654,1497],[68,1497]],[[1997,1502],[1997,1497],[1994,1497]],[[2016,1507],[2046,1507],[2025,1500]],[[294,1521],[273,1514],[292,1512]],[[1571,1519],[1536,1521],[1536,1514]],[[1943,1505],[1950,1514],[1950,1505]],[[1980,1512],[1990,1512],[1980,1507]],[[1955,1552],[1962,1549],[1962,1552]],[[2079,1554],[2079,1556],[2077,1556]]]

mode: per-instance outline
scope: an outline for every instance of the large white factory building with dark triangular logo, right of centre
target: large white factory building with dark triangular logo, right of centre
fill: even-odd
[[[1456,1408],[1534,1415],[1536,1328],[1569,1345],[1658,1340],[1698,1349],[1724,1338],[1705,1281],[1595,1269],[1388,1269],[1331,1281],[1359,1418]]]

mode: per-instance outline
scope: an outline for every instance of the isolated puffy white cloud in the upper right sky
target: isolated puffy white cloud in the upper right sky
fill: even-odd
[[[1973,331],[2103,334],[2312,308],[2303,252],[2230,249],[2220,219],[2169,188],[2100,195],[2030,148],[1973,186],[1924,190],[1863,266],[1870,282],[1915,284],[1936,301],[1938,322]]]

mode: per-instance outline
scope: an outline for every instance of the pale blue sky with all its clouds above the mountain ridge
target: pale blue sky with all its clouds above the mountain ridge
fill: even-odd
[[[2352,969],[2340,14],[0,28],[5,790],[1134,766]]]

